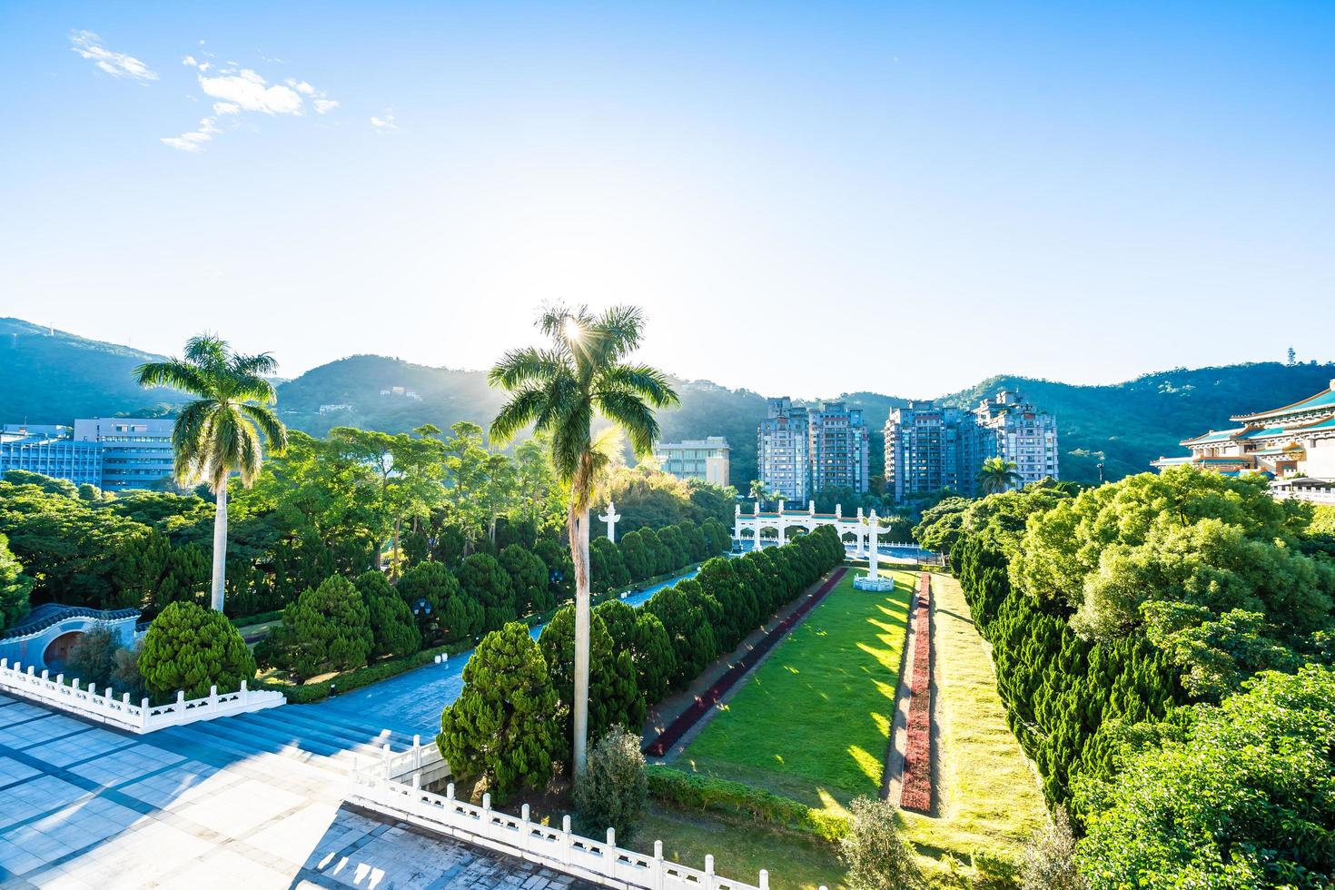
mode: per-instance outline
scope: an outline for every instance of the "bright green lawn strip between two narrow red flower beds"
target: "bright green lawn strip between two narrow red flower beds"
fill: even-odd
[[[913,575],[853,588],[854,572],[780,643],[676,766],[842,810],[881,787]]]

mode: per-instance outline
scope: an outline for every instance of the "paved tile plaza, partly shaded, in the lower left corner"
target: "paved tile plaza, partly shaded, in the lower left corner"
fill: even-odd
[[[135,737],[0,695],[0,885],[589,886],[342,806],[347,762],[383,737],[303,743],[298,711]]]

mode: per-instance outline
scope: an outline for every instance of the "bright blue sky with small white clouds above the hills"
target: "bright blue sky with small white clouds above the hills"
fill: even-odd
[[[766,395],[1335,359],[1335,3],[4,3],[0,316]]]

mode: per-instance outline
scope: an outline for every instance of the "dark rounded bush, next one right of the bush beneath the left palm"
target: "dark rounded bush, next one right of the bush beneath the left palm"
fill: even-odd
[[[347,578],[330,575],[283,610],[284,663],[300,678],[366,664],[375,638],[371,615]]]

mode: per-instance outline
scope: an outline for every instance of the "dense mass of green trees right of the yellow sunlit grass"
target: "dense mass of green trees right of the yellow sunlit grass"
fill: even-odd
[[[1011,729],[1075,817],[1092,886],[1328,886],[1326,511],[1180,468],[943,502],[914,534],[952,548]]]

